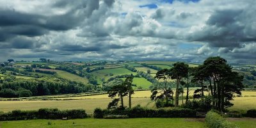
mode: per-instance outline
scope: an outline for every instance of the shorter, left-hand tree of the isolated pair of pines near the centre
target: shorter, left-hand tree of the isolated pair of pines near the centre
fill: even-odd
[[[124,108],[124,97],[128,95],[129,88],[127,88],[127,86],[125,86],[124,81],[122,79],[115,79],[115,81],[113,81],[111,84],[112,84],[112,86],[111,86],[110,90],[108,91],[108,97],[113,98],[113,97],[116,97],[116,95],[117,95],[119,97],[119,99],[121,100],[120,107]]]

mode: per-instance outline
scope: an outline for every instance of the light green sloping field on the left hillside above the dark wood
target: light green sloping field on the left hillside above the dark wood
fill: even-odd
[[[77,82],[81,82],[81,83],[84,83],[84,84],[88,83],[88,79],[86,79],[84,77],[74,75],[74,74],[71,74],[71,73],[63,71],[63,70],[54,70],[54,69],[40,69],[40,70],[49,70],[49,71],[52,71],[52,72],[56,72],[57,76],[60,76],[64,79],[68,79],[70,81],[77,81]]]

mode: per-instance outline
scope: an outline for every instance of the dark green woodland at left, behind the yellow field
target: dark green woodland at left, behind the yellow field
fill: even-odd
[[[44,77],[39,79],[17,79],[4,76],[0,83],[0,97],[30,97],[38,95],[58,95],[66,93],[93,92],[97,86],[77,83],[65,79]]]

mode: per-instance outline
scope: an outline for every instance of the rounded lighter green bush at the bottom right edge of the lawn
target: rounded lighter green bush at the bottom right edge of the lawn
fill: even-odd
[[[205,122],[207,123],[208,127],[211,128],[236,128],[235,124],[227,122],[221,115],[214,111],[209,111],[206,114]]]

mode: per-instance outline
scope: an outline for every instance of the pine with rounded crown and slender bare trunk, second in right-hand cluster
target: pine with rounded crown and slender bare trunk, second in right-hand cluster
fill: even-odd
[[[170,77],[176,79],[175,107],[179,106],[179,86],[183,77],[188,76],[188,64],[177,62],[170,69]]]

